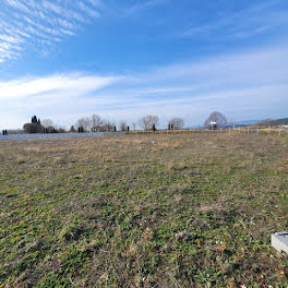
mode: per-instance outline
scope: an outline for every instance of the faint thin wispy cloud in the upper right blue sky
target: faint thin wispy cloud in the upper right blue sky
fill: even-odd
[[[182,36],[245,38],[285,27],[288,24],[288,12],[277,3],[278,1],[267,1],[237,12],[219,11],[216,20],[203,25],[193,24]]]

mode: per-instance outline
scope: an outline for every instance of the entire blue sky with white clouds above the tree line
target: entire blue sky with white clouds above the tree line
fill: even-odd
[[[287,0],[0,0],[0,129],[287,108]]]

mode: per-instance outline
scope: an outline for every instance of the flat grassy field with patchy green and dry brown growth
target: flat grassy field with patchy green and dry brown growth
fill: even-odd
[[[1,141],[0,287],[288,287],[288,256],[269,243],[288,230],[287,144]]]

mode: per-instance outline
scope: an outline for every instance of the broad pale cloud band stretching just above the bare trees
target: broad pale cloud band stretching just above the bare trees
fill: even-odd
[[[287,67],[288,48],[284,45],[130,75],[24,77],[0,83],[1,123],[17,127],[36,113],[69,125],[81,115],[97,112],[128,121],[157,113],[163,124],[169,117],[181,116],[193,125],[215,109],[237,119],[285,117]]]

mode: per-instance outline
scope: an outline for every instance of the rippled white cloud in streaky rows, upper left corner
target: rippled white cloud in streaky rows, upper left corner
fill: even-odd
[[[27,47],[49,49],[100,16],[98,0],[0,0],[0,61],[16,59]]]

